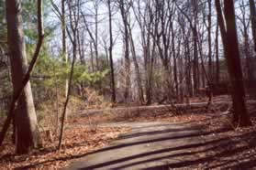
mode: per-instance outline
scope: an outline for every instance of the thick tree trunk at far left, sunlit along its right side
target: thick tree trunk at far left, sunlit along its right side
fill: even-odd
[[[6,0],[8,46],[15,93],[22,84],[28,65],[21,13],[20,1]],[[32,148],[39,146],[39,126],[29,81],[20,96],[15,112],[16,152],[28,154]]]

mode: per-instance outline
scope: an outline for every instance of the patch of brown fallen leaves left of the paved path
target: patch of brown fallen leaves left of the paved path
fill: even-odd
[[[91,151],[98,150],[116,139],[121,133],[127,133],[127,127],[68,127],[64,134],[61,151],[56,151],[58,140],[48,140],[45,133],[43,148],[27,155],[15,155],[10,140],[0,147],[0,169],[60,169],[69,165]]]

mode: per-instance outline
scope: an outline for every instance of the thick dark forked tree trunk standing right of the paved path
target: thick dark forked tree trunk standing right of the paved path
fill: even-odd
[[[229,80],[231,83],[231,95],[233,102],[233,123],[238,126],[250,125],[250,118],[245,104],[245,90],[243,75],[239,58],[239,43],[235,20],[235,9],[233,0],[224,1],[224,16],[222,16],[221,5],[216,0],[218,25],[221,30],[222,41],[225,50],[225,58],[228,65]]]

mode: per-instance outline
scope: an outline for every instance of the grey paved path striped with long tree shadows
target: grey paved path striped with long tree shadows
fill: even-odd
[[[188,123],[127,122],[130,133],[106,148],[87,154],[68,169],[169,169],[200,160],[206,143],[202,126]],[[117,124],[116,124],[117,125]],[[119,124],[120,125],[120,124]],[[196,150],[197,149],[197,150]],[[194,165],[194,164],[193,164]]]

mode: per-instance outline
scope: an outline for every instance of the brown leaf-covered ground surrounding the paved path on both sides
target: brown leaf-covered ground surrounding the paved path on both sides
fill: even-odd
[[[134,133],[131,123],[185,122],[191,127],[204,127],[204,133],[199,135],[204,143],[200,141],[192,145],[187,144],[184,146],[186,149],[176,153],[179,154],[177,159],[185,160],[184,164],[175,163],[162,168],[251,168],[256,164],[256,106],[250,104],[248,108],[253,125],[247,128],[231,126],[229,121],[231,115],[228,112],[228,104],[225,103],[212,105],[208,110],[201,106],[179,109],[166,107],[151,109],[150,112],[127,110],[126,112],[77,114],[68,121],[61,151],[56,152],[57,139],[53,138],[53,141],[50,141],[47,134],[42,133],[43,149],[29,155],[17,156],[8,138],[0,147],[0,167],[1,169],[59,169],[71,165],[72,162],[83,160],[83,157],[89,153],[106,148],[120,135]],[[183,139],[177,138],[178,140]],[[196,159],[189,160],[186,158],[187,155]]]

